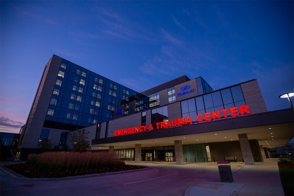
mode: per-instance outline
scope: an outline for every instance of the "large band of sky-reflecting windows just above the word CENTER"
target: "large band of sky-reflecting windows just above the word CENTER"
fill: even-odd
[[[193,122],[197,122],[197,115],[207,112],[216,112],[231,107],[246,105],[240,85],[228,89],[205,94],[189,100],[181,101],[182,116],[190,116]],[[230,111],[226,111],[228,118],[231,117]],[[221,112],[220,117],[224,118]]]

